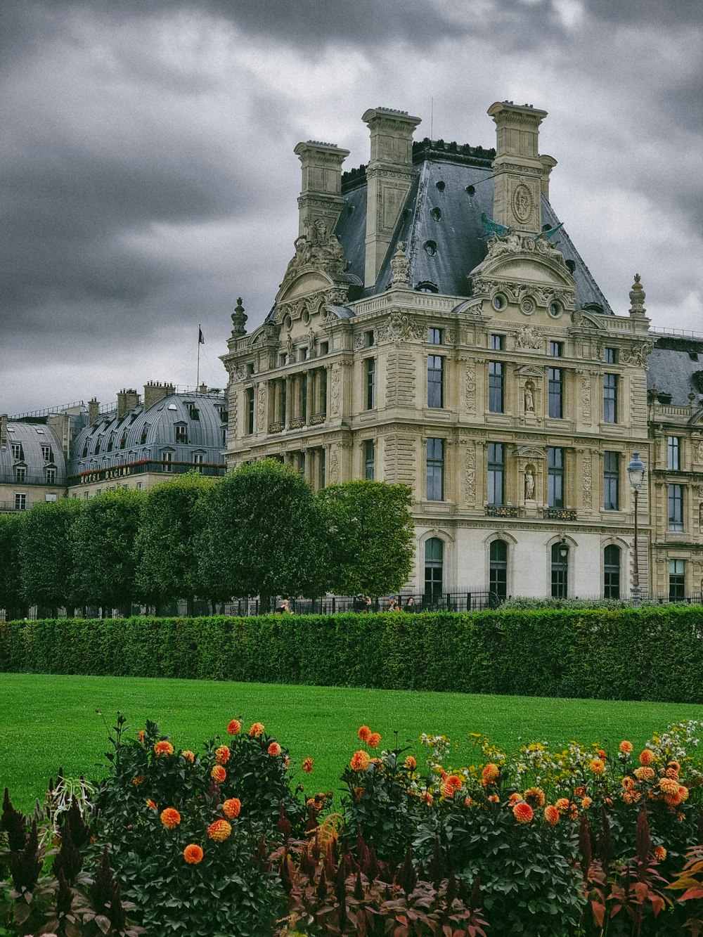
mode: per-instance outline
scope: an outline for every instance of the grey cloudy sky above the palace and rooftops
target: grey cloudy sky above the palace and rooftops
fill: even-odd
[[[549,113],[551,201],[610,304],[703,332],[698,0],[5,0],[0,412],[224,386],[292,256],[301,140],[366,162],[368,107],[495,145]]]

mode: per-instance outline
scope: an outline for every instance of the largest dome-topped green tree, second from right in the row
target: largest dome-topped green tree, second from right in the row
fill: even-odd
[[[202,498],[202,581],[213,600],[320,591],[320,510],[273,459],[241,466]]]

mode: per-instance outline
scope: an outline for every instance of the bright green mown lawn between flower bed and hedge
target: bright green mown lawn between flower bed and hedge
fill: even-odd
[[[227,722],[243,717],[245,727],[262,721],[299,763],[315,759],[303,780],[310,791],[337,790],[342,767],[357,746],[356,730],[366,722],[390,744],[413,746],[422,732],[462,743],[457,764],[471,761],[468,735],[485,733],[503,748],[525,742],[617,744],[629,738],[641,746],[656,729],[680,719],[703,720],[703,706],[618,703],[597,700],[464,693],[350,690],[139,677],[52,677],[0,675],[0,791],[6,785],[17,807],[28,810],[42,797],[50,776],[63,766],[67,776],[97,778],[104,770],[106,734],[101,709],[112,725],[119,709],[136,732],[149,718],[182,748],[197,750],[207,738],[226,735]]]

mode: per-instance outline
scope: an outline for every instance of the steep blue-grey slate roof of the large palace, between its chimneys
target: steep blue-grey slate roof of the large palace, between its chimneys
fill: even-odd
[[[493,216],[491,164],[495,150],[460,146],[443,141],[419,141],[412,145],[417,175],[400,211],[393,239],[381,264],[376,283],[350,299],[372,296],[388,289],[391,258],[399,241],[406,245],[410,281],[414,289],[450,296],[471,296],[471,270],[486,258],[488,235],[481,213]],[[345,206],[334,233],[349,262],[347,274],[364,282],[366,253],[366,167],[342,175]],[[553,228],[560,219],[542,196],[543,225]],[[576,308],[612,315],[606,297],[589,268],[561,228],[553,243],[576,279]],[[572,269],[573,268],[573,269]],[[276,319],[276,305],[267,321]]]

